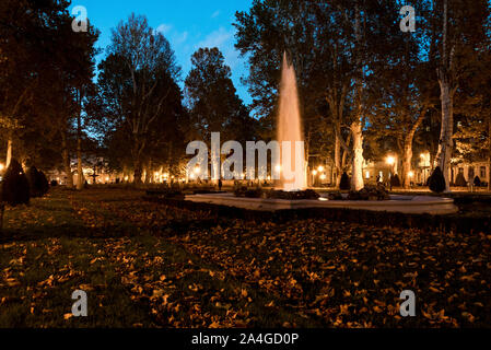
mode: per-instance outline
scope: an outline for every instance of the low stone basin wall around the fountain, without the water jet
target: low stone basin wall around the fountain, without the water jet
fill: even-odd
[[[383,201],[352,201],[352,200],[285,200],[262,198],[237,198],[233,194],[212,194],[186,196],[186,200],[211,205],[243,208],[259,211],[277,211],[306,208],[343,208],[353,210],[388,211],[419,214],[451,214],[458,211],[451,198],[430,196],[390,196],[390,200]]]

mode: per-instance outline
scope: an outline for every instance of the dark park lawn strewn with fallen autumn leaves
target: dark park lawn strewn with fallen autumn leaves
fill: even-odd
[[[491,326],[489,232],[246,222],[142,196],[59,188],[8,210],[0,327]]]

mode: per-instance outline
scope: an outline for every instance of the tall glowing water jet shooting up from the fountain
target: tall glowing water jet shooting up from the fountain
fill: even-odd
[[[307,176],[305,166],[305,153],[302,147],[301,152],[295,152],[296,142],[304,141],[301,115],[299,92],[296,88],[296,75],[293,65],[288,61],[287,52],[283,55],[283,67],[281,70],[281,84],[280,84],[280,101],[278,112],[278,142],[280,145],[284,141],[289,141],[291,144],[291,156],[283,155],[282,148],[282,171],[283,174],[280,179],[279,187],[287,191],[304,190],[307,188]],[[299,155],[300,159],[296,159]],[[287,160],[287,162],[285,162]],[[291,166],[291,172],[294,173],[293,179],[285,179],[284,172],[285,166]]]

